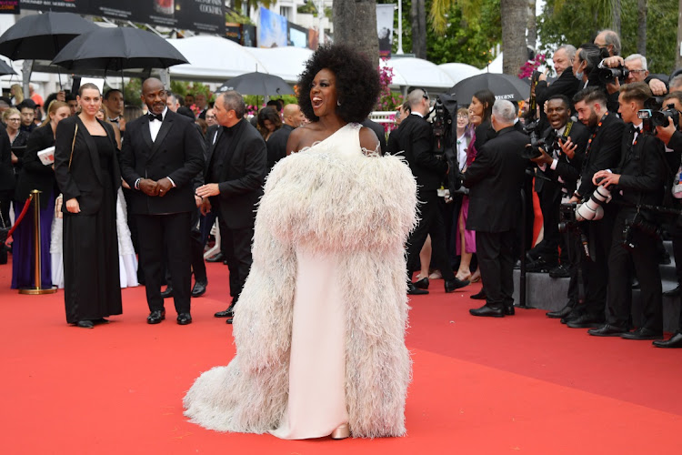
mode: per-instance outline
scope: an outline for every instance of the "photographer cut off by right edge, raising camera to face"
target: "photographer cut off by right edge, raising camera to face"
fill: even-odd
[[[673,83],[671,80],[670,89],[673,89]],[[682,92],[672,92],[670,95],[666,96],[663,100],[663,108],[667,109],[667,106],[672,104],[677,112],[682,111]],[[666,144],[666,158],[668,166],[670,169],[677,172],[675,173],[672,187],[672,207],[677,209],[682,209],[682,192],[680,192],[681,187],[680,175],[682,175],[682,165],[680,165],[680,157],[682,157],[682,133],[679,131],[679,118],[677,120],[677,126],[673,121],[673,118],[667,119],[667,126],[657,126],[657,137]],[[673,239],[673,255],[675,256],[675,267],[677,268],[677,288],[672,291],[664,293],[668,297],[677,297],[677,303],[680,304],[680,283],[682,283],[682,217],[677,217],[673,223],[671,229],[671,237]],[[654,341],[654,346],[657,348],[682,348],[682,310],[679,312],[679,322],[677,325],[677,331],[673,334],[670,339],[665,341]]]

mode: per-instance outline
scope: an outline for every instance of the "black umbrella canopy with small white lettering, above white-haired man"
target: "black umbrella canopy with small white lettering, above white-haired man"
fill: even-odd
[[[459,104],[468,104],[471,97],[478,90],[487,88],[495,94],[496,99],[508,99],[509,101],[521,101],[530,94],[530,86],[527,81],[519,79],[517,76],[498,75],[495,73],[484,73],[467,77],[456,83],[449,90],[450,94],[456,96]]]

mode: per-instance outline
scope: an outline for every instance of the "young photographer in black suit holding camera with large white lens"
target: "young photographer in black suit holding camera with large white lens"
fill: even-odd
[[[622,159],[618,168],[601,170],[592,178],[595,185],[607,188],[622,202],[608,257],[607,323],[588,330],[590,335],[598,337],[663,337],[661,276],[656,255],[652,254],[656,250],[657,227],[651,213],[639,207],[661,204],[667,175],[663,143],[641,132],[642,120],[637,116],[650,97],[651,90],[644,82],[620,88],[618,112],[627,122],[621,142]],[[641,326],[633,332],[628,331],[632,302],[630,258],[641,284],[643,313]]]

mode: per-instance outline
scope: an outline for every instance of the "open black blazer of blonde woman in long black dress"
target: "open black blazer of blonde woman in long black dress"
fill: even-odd
[[[97,120],[105,128],[112,146],[116,150],[114,128],[106,122]],[[75,132],[75,126],[78,131]],[[74,141],[75,133],[75,143]],[[73,155],[71,145],[74,144]],[[99,211],[105,191],[111,191],[121,186],[121,172],[118,167],[118,157],[115,153],[111,157],[112,181],[106,182],[102,176],[99,153],[95,146],[95,139],[87,132],[87,128],[78,116],[70,116],[57,125],[55,141],[55,177],[57,185],[64,195],[64,202],[71,198],[78,200],[81,213],[92,215]],[[69,169],[69,159],[71,168]],[[62,205],[66,212],[66,204]]]

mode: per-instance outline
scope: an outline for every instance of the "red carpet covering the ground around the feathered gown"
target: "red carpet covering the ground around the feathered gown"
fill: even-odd
[[[596,339],[544,311],[476,319],[478,285],[446,295],[432,281],[413,298],[408,347],[414,381],[405,438],[277,440],[188,423],[192,380],[232,358],[227,269],[208,264],[195,322],[145,323],[144,288],[123,291],[124,311],[92,330],[65,324],[63,294],[20,296],[0,266],[4,359],[0,447],[7,454],[497,454],[678,453],[682,350]]]

